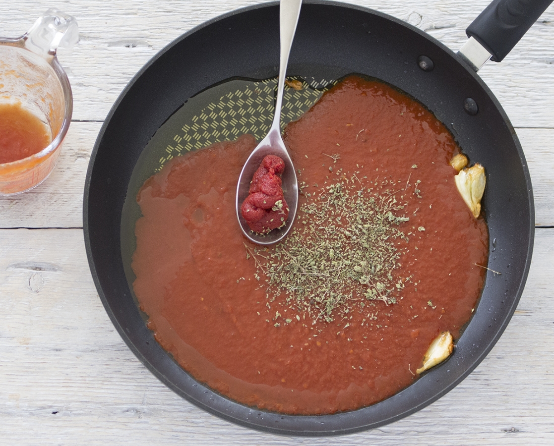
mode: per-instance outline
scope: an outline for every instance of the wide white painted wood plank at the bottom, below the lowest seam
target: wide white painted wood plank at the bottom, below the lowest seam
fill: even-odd
[[[537,230],[519,307],[466,380],[372,432],[284,438],[182,400],[132,355],[88,272],[82,231],[0,231],[0,444],[460,445],[554,441],[554,231]]]

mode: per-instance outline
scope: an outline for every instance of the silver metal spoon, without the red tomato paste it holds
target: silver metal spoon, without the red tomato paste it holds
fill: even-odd
[[[293,226],[296,208],[298,206],[298,180],[294,165],[290,159],[289,152],[286,150],[285,143],[281,137],[281,105],[283,103],[283,92],[285,90],[286,66],[289,62],[290,47],[293,44],[296,24],[300,15],[300,6],[302,0],[281,0],[279,4],[279,34],[281,41],[281,59],[279,65],[279,81],[277,84],[277,98],[275,101],[275,115],[273,123],[264,139],[258,144],[250,154],[247,162],[244,164],[237,185],[237,217],[240,228],[245,236],[258,245],[271,245],[278,242],[290,231]],[[279,229],[274,229],[268,234],[260,235],[251,231],[247,222],[240,214],[240,206],[248,196],[250,181],[254,172],[260,167],[261,161],[266,155],[276,155],[285,162],[285,170],[281,175],[283,181],[283,195],[289,206],[289,217],[286,224]]]

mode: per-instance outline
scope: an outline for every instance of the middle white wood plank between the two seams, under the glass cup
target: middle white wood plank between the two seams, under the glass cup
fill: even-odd
[[[0,228],[83,227],[83,188],[97,122],[73,122],[58,165],[37,188],[0,196]],[[554,129],[517,130],[535,194],[536,225],[554,226]]]

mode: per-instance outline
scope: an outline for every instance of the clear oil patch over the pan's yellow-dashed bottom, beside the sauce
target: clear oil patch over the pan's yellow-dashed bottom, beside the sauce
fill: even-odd
[[[337,82],[297,76],[287,79],[302,82],[302,89],[285,88],[281,129],[308,111]],[[276,90],[276,77],[224,81],[189,98],[152,136],[131,175],[121,214],[121,256],[129,289],[136,278],[131,257],[136,249],[135,222],[141,216],[136,196],[144,181],[168,160],[213,143],[234,141],[245,133],[261,141],[273,120]],[[147,320],[145,314],[142,317]]]

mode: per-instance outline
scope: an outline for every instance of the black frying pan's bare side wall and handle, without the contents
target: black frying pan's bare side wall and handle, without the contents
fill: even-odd
[[[520,21],[527,23],[518,28],[510,20],[515,20],[511,13],[517,16],[520,2],[495,1],[472,25],[471,33],[495,60],[501,60],[550,2],[535,1],[540,11],[523,14]],[[490,25],[491,20],[503,17],[507,23],[497,24],[491,33],[483,32],[484,23]],[[148,141],[188,98],[233,77],[267,79],[277,74],[278,21],[276,2],[210,20],[160,51],[127,85],[101,128],[86,175],[86,251],[100,298],[116,329],[173,391],[228,421],[266,432],[352,433],[395,421],[437,400],[493,348],[514,313],[529,271],[535,222],[531,181],[514,128],[476,75],[476,63],[386,14],[344,3],[305,1],[289,75],[373,76],[431,110],[470,160],[486,167],[483,206],[490,232],[488,267],[501,275],[488,271],[480,303],[453,355],[413,385],[373,406],[325,416],[288,416],[230,401],[195,381],[156,343],[126,279],[121,222],[127,186]],[[506,37],[514,32],[519,33],[516,38]],[[492,40],[487,33],[493,35]]]

